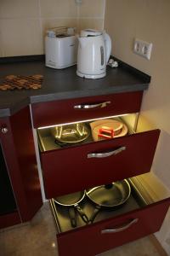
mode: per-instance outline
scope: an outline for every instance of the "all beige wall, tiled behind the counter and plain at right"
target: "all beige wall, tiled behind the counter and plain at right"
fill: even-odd
[[[170,189],[170,1],[169,0],[0,0],[0,56],[39,55],[52,26],[103,28],[112,54],[152,76],[139,124],[161,128],[153,171]],[[133,54],[133,39],[153,43],[150,61]],[[140,129],[139,125],[139,129]],[[156,236],[170,255],[170,213]]]

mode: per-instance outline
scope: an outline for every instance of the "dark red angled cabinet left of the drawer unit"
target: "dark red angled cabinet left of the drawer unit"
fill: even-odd
[[[5,167],[4,163],[1,164],[3,170],[8,172],[7,186],[10,186],[16,206],[11,209],[11,212],[2,210],[0,228],[3,228],[30,220],[42,206],[42,195],[29,107],[23,108],[8,118],[0,119],[0,128],[0,142]],[[8,198],[4,198],[6,194],[2,194],[0,195],[2,202],[8,201]]]

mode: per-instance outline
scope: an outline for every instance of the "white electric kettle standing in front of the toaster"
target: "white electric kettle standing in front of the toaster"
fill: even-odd
[[[110,36],[105,32],[85,29],[78,40],[77,75],[86,79],[105,77],[111,55]]]

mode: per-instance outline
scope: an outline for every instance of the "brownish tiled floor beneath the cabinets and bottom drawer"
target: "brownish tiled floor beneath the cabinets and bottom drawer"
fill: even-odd
[[[54,219],[45,203],[31,223],[1,230],[0,256],[58,256]],[[150,236],[99,256],[165,256]],[[65,256],[69,256],[65,255]],[[80,255],[81,256],[81,255]]]

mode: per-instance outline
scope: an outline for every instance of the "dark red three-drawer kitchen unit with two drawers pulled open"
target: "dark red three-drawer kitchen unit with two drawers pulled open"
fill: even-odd
[[[43,184],[48,199],[65,194],[71,196],[71,193],[124,178],[131,181],[133,177],[150,172],[159,130],[129,132],[124,137],[63,148],[52,145],[54,138],[50,138],[48,147],[45,146],[50,125],[114,119],[117,115],[139,113],[142,95],[142,92],[128,92],[32,104],[33,125],[37,128]],[[122,119],[122,116],[118,118]],[[135,185],[131,186],[135,191]],[[77,214],[76,228],[71,227],[68,209],[52,199],[59,256],[68,253],[71,256],[94,256],[159,230],[170,205],[170,193],[159,200],[150,200],[149,188],[144,189],[142,181],[138,186],[141,186],[141,191],[133,192],[122,209],[99,213],[99,219],[96,218],[93,224],[84,224]],[[88,205],[86,199],[81,207],[89,218],[94,211],[93,206]]]

